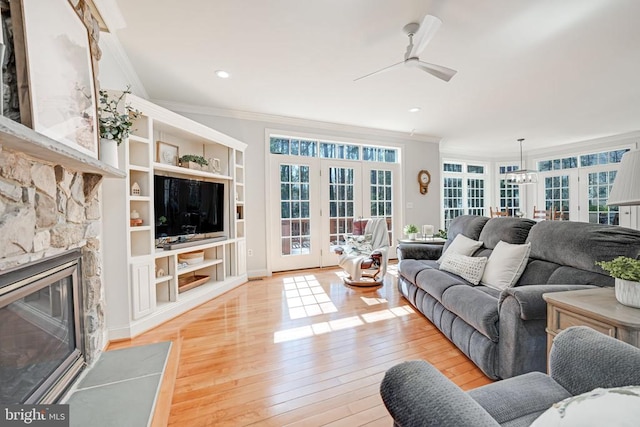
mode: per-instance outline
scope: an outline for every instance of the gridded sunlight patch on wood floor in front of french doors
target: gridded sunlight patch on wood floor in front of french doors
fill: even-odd
[[[291,319],[338,311],[314,275],[287,277],[283,285]]]

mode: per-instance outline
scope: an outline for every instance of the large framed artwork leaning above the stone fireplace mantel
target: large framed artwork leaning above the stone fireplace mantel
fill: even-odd
[[[98,104],[87,27],[68,1],[11,4],[22,124],[97,158]]]

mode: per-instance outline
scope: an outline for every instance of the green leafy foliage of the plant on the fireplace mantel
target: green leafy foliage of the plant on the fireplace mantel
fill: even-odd
[[[129,136],[133,120],[142,114],[129,104],[120,106],[124,97],[130,93],[131,86],[127,86],[117,98],[112,98],[106,90],[100,91],[100,138],[114,140],[120,145]]]

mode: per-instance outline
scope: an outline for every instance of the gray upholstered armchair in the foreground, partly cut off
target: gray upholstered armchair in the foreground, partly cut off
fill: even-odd
[[[577,326],[555,338],[550,374],[530,372],[462,391],[424,361],[389,369],[382,400],[399,427],[529,426],[555,402],[595,388],[640,385],[640,349]]]

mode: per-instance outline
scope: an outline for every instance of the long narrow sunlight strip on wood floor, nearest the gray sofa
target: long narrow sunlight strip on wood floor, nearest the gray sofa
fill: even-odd
[[[278,344],[286,341],[294,341],[302,338],[309,338],[314,335],[322,335],[328,332],[342,329],[355,328],[365,323],[374,323],[381,320],[393,319],[413,314],[415,311],[408,305],[393,307],[385,310],[364,313],[360,316],[345,317],[343,319],[330,320],[328,322],[318,322],[299,328],[283,329],[273,334],[273,343]]]

